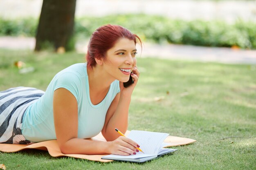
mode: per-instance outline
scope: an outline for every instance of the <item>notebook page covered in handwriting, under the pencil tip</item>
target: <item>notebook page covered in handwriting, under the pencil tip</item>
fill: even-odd
[[[160,132],[148,132],[142,130],[132,130],[128,135],[128,138],[139,144],[140,149],[145,154],[157,155],[164,139],[168,136],[168,133]],[[141,152],[139,152],[141,153]]]

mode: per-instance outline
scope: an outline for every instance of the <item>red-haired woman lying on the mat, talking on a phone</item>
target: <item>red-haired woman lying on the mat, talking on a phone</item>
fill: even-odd
[[[139,152],[139,145],[121,137],[139,70],[140,38],[117,25],[99,27],[88,44],[87,63],[57,73],[45,92],[10,88],[0,92],[0,143],[29,144],[57,139],[64,154]],[[124,88],[132,77],[134,83]],[[90,141],[99,132],[107,141]]]

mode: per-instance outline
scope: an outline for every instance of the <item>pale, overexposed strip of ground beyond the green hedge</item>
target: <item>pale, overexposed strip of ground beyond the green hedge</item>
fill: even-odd
[[[2,18],[38,18],[43,0],[1,0]],[[255,0],[76,0],[76,17],[145,13],[185,20],[256,21]]]

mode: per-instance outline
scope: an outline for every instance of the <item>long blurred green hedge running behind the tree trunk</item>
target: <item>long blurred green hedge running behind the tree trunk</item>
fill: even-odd
[[[38,21],[33,18],[4,20],[0,18],[0,35],[35,36]],[[224,21],[184,21],[144,15],[108,15],[84,17],[75,21],[74,35],[89,38],[104,24],[119,24],[137,33],[142,40],[156,43],[191,44],[200,46],[239,46],[256,49],[256,23],[238,20],[235,24]]]

